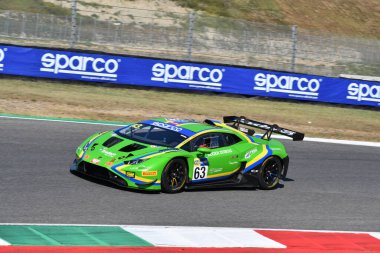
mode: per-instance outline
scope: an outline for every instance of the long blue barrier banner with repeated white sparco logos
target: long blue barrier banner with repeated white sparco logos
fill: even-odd
[[[380,83],[0,45],[0,73],[380,107]]]

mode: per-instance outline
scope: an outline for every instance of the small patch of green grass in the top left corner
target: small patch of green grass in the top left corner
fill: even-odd
[[[58,16],[67,16],[71,14],[71,10],[68,8],[63,8],[42,0],[0,0],[0,9],[54,14]]]

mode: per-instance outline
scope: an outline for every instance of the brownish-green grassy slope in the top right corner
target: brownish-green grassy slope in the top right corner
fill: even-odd
[[[215,16],[301,29],[380,38],[379,0],[173,0],[178,5]],[[221,24],[223,25],[223,24]]]

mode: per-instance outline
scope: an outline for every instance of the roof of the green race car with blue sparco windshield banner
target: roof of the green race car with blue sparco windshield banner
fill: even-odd
[[[207,124],[204,122],[196,121],[196,120],[189,120],[189,119],[174,119],[174,118],[155,118],[150,120],[144,120],[139,123],[148,124],[148,125],[157,125],[159,127],[168,128],[165,126],[170,126],[173,128],[168,128],[170,130],[177,131],[181,134],[184,134],[188,137],[203,132],[206,130],[220,130],[221,127],[213,126],[211,124]],[[164,123],[165,125],[159,125],[157,123]]]

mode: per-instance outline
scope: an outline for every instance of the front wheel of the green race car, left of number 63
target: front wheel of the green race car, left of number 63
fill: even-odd
[[[187,179],[187,163],[175,158],[168,162],[161,176],[161,188],[166,193],[177,193],[183,190]]]

